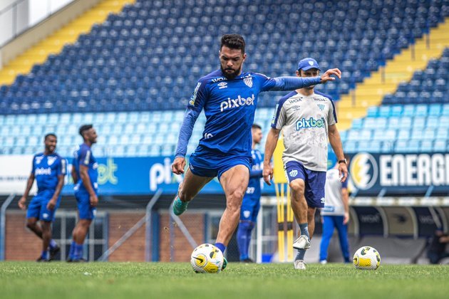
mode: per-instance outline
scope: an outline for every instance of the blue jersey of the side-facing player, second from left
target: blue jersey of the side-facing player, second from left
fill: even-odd
[[[78,177],[78,182],[75,184],[75,188],[80,191],[85,191],[86,187],[84,187],[83,181],[80,176],[80,167],[81,165],[88,167],[88,176],[91,179],[91,185],[93,190],[97,193],[98,189],[98,163],[95,157],[93,157],[91,147],[83,143],[79,146],[78,150],[74,153],[73,157],[73,167],[76,169],[76,175]]]

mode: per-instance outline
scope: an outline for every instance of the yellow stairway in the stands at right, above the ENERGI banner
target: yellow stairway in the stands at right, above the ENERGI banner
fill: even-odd
[[[349,95],[342,96],[339,102],[339,130],[351,127],[355,118],[366,115],[370,106],[380,105],[384,95],[393,93],[398,84],[411,79],[416,70],[423,70],[431,58],[440,58],[445,47],[449,46],[449,18],[428,34],[419,38],[392,61],[387,61],[371,77],[356,85]]]

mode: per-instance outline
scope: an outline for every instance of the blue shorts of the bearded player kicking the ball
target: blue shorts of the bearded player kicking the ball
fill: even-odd
[[[195,151],[190,156],[189,168],[199,177],[220,177],[224,172],[237,165],[246,166],[251,171],[250,157],[217,154],[214,152]]]

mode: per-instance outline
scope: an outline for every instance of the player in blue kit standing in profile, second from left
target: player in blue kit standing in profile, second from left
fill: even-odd
[[[73,241],[68,253],[68,262],[85,261],[83,243],[89,226],[96,215],[98,204],[98,163],[93,157],[91,147],[97,142],[97,132],[92,125],[82,125],[79,130],[84,143],[74,153],[72,177],[75,187],[79,221],[73,229]]]

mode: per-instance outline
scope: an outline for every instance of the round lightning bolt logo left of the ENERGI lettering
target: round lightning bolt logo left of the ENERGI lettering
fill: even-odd
[[[358,189],[366,190],[373,187],[378,178],[376,159],[367,152],[356,154],[351,159],[351,178]]]

